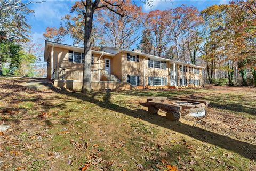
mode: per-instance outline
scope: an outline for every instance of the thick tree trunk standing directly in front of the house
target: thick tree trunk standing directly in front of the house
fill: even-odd
[[[92,61],[92,49],[91,49],[91,32],[92,32],[92,20],[93,20],[92,2],[86,1],[86,12],[84,14],[84,70],[83,70],[83,86],[82,93],[91,92],[91,61]]]

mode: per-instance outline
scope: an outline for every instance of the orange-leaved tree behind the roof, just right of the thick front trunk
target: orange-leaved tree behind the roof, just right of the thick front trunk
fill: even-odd
[[[97,11],[97,26],[103,31],[103,45],[130,48],[134,42],[141,38],[140,30],[145,16],[142,8],[127,0],[122,9],[129,16],[121,17],[108,9]]]

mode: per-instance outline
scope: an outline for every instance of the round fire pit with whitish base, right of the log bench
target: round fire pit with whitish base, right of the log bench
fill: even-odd
[[[205,104],[193,101],[177,101],[173,102],[172,104],[178,105],[181,108],[181,115],[189,115],[189,116],[204,116],[205,115]]]

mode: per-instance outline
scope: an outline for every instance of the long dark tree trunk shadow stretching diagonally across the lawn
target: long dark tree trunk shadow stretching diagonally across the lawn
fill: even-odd
[[[62,89],[62,91],[58,91],[58,93],[66,94],[68,96],[76,97],[77,99],[94,103],[101,108],[106,108],[115,112],[123,113],[124,115],[129,115],[135,118],[140,118],[142,120],[148,121],[149,123],[171,129],[175,132],[179,132],[181,134],[188,135],[197,140],[210,143],[215,146],[219,146],[223,149],[233,151],[235,153],[241,154],[242,156],[249,159],[256,159],[256,145],[238,141],[232,139],[231,137],[223,136],[211,131],[207,131],[202,128],[190,126],[182,123],[181,121],[171,122],[166,120],[164,116],[161,115],[151,115],[148,116],[147,111],[142,109],[131,110],[125,107],[121,107],[117,104],[113,104],[110,101],[111,92],[107,91],[105,97],[103,97],[103,101],[94,99],[94,94],[92,95],[84,95],[82,93],[68,92],[66,89]]]

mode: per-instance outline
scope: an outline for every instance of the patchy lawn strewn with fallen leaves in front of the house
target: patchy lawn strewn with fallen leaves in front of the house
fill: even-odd
[[[256,89],[35,91],[0,77],[2,170],[256,170]],[[210,100],[205,117],[148,115],[148,96]],[[170,167],[170,166],[169,166]]]

